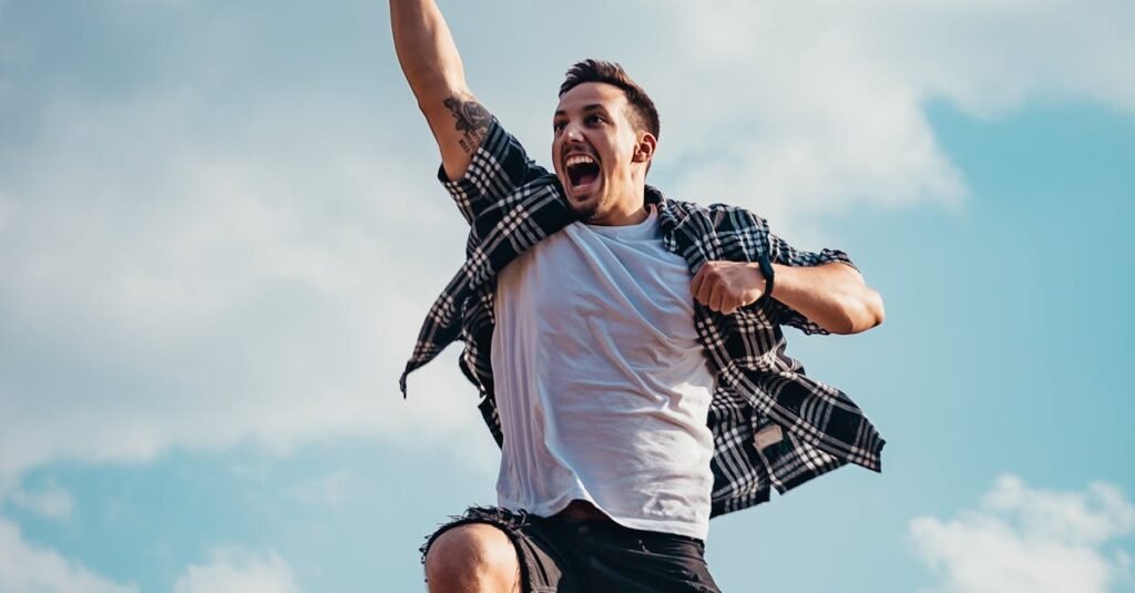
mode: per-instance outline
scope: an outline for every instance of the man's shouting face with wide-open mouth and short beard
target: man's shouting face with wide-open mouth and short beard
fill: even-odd
[[[606,83],[583,83],[560,98],[553,118],[552,161],[568,204],[580,220],[603,224],[633,199],[640,133],[628,119],[627,95]],[[645,175],[645,173],[644,173]]]

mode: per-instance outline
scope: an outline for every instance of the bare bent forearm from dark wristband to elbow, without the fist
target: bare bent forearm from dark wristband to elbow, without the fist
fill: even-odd
[[[833,334],[855,334],[883,323],[883,299],[843,264],[774,265],[772,296]]]

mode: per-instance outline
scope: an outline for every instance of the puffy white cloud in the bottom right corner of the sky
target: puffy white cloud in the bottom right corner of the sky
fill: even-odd
[[[940,578],[934,593],[1105,593],[1129,576],[1110,549],[1135,532],[1135,507],[1110,484],[1084,492],[1028,488],[1003,476],[975,510],[950,520],[918,517],[910,534]]]

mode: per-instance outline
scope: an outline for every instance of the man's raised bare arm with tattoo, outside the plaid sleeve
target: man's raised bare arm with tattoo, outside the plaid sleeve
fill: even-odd
[[[451,179],[464,175],[491,116],[469,91],[461,56],[434,0],[390,0],[394,50],[442,150]]]

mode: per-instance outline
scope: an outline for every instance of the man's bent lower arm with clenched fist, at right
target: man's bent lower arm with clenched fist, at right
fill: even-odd
[[[766,290],[757,262],[709,261],[693,276],[693,296],[711,309],[731,315]],[[772,298],[833,334],[856,334],[883,323],[883,299],[859,270],[841,264],[785,266],[773,264]]]

